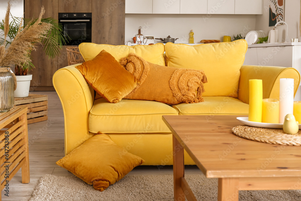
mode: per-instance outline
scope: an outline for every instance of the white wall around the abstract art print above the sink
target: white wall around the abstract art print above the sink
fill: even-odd
[[[264,30],[267,34],[274,27],[268,26],[269,20],[269,2],[270,0],[263,0],[263,15],[256,16],[256,30]],[[284,5],[284,21],[288,24],[288,38],[299,38],[299,20],[300,20],[300,1],[286,0]],[[285,41],[285,25],[278,25],[278,42]]]

